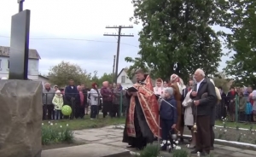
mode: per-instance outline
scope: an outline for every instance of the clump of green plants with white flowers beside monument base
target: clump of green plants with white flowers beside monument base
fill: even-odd
[[[73,131],[66,126],[42,123],[42,144],[55,144],[60,142],[73,142]]]

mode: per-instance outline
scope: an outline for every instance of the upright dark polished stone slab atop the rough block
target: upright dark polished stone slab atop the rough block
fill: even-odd
[[[12,16],[9,79],[27,79],[30,10],[22,11],[23,2],[18,1],[20,13]]]

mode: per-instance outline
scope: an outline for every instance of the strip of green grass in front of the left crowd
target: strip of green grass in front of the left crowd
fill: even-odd
[[[68,125],[72,130],[82,130],[82,129],[90,129],[90,128],[100,128],[108,125],[124,125],[125,118],[102,118],[102,115],[99,116],[99,119],[90,119],[90,116],[86,116],[84,119],[62,119],[62,120],[50,120],[43,121],[44,125],[49,125],[52,123],[53,125]]]

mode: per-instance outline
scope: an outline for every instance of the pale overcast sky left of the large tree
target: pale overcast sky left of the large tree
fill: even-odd
[[[18,12],[18,3],[0,0],[0,6],[0,45],[9,46],[11,16]],[[39,72],[44,74],[61,61],[77,63],[90,73],[112,73],[117,39],[103,33],[117,30],[105,27],[133,25],[129,20],[133,15],[131,0],[26,0],[24,9],[31,10],[30,49],[38,50],[42,58]],[[129,66],[125,56],[137,56],[141,28],[122,31],[135,37],[121,38],[119,70]],[[223,57],[219,69],[227,59]]]

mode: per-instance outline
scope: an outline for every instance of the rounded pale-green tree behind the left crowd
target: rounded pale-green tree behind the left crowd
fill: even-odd
[[[69,79],[73,79],[75,84],[90,82],[90,73],[86,73],[79,65],[61,61],[60,64],[49,69],[49,82],[59,86],[65,86]]]

